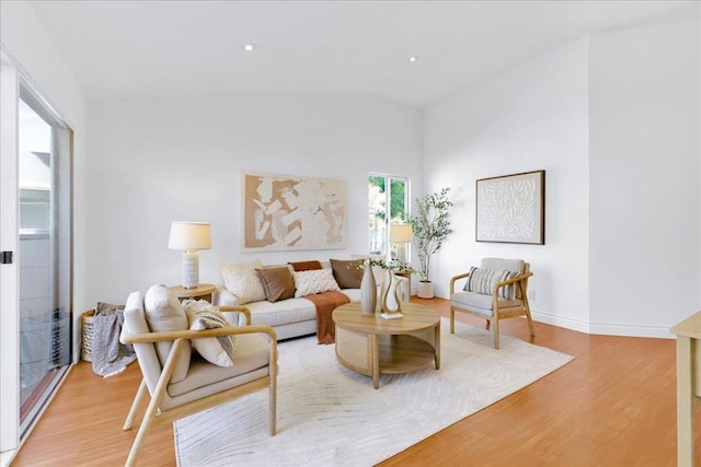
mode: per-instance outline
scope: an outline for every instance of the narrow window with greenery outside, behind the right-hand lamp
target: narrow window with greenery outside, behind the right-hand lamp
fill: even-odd
[[[409,188],[406,177],[370,174],[368,178],[368,246],[371,254],[382,256],[388,254],[389,225],[400,223],[409,215]],[[389,247],[391,256],[397,257],[397,245],[389,245]]]

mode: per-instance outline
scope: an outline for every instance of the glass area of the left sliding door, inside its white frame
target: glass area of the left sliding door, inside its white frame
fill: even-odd
[[[44,115],[42,115],[44,114]],[[68,295],[61,293],[60,135],[27,91],[19,104],[20,418],[31,422],[56,377],[70,362]]]

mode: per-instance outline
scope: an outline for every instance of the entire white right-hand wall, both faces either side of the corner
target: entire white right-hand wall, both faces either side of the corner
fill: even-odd
[[[670,337],[701,307],[698,22],[609,32],[507,70],[425,113],[427,190],[452,186],[450,276],[484,256],[531,261],[535,317]],[[547,171],[545,245],[474,242],[474,180]]]

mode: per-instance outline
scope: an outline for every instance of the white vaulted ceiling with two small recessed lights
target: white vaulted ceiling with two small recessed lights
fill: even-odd
[[[31,4],[89,98],[292,93],[413,106],[595,32],[700,17],[698,1]]]

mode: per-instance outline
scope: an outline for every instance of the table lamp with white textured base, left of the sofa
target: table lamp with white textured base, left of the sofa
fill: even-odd
[[[174,221],[168,247],[183,252],[183,288],[195,289],[199,283],[198,252],[211,248],[209,222]]]

